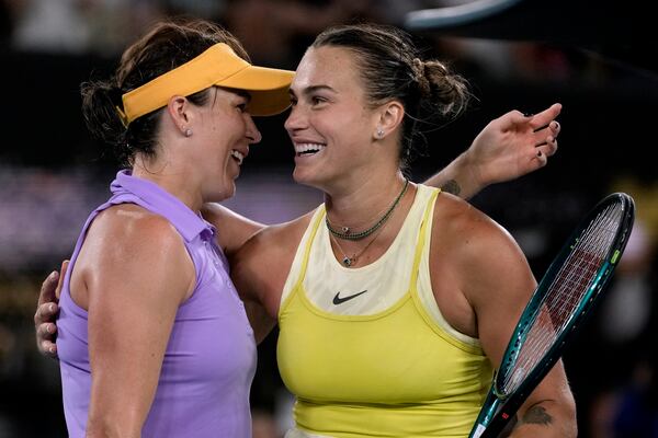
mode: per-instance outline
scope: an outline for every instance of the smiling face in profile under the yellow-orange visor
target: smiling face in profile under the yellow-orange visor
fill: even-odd
[[[191,175],[198,176],[203,201],[222,200],[235,194],[235,180],[249,145],[261,135],[247,113],[249,95],[235,90],[213,88],[208,102],[195,110],[188,162]]]

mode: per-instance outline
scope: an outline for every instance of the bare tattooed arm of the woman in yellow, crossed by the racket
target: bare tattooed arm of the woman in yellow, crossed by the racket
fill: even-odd
[[[481,218],[476,219],[472,231],[472,241],[476,243],[467,250],[467,258],[473,264],[467,269],[463,290],[475,311],[483,348],[498,368],[536,281],[521,249],[501,227]],[[554,420],[551,434],[563,437],[571,435],[575,406],[561,361],[519,410],[518,428],[545,426],[524,423],[529,410],[538,404],[543,414]],[[546,431],[545,428],[541,430]]]

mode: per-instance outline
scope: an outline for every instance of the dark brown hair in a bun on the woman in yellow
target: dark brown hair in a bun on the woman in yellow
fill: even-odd
[[[419,123],[450,122],[468,104],[466,81],[439,60],[421,60],[411,36],[389,25],[350,24],[320,33],[311,47],[354,51],[367,99],[373,105],[398,100],[405,106],[400,160],[409,163]]]

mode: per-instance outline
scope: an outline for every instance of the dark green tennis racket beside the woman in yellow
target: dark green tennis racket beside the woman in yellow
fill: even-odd
[[[614,193],[580,222],[537,285],[502,357],[469,438],[492,438],[559,359],[619,263],[635,217]]]

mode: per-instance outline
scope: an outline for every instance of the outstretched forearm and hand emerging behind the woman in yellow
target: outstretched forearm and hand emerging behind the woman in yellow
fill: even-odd
[[[468,199],[488,185],[543,168],[557,150],[560,111],[556,103],[535,115],[511,111],[491,120],[470,148],[424,184]]]

